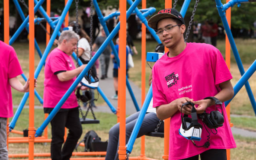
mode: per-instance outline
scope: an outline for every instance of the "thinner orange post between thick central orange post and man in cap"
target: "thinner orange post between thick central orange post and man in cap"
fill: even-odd
[[[142,9],[146,8],[146,0],[142,0]],[[146,26],[141,24],[141,106],[145,100],[146,88]],[[145,136],[141,137],[140,156],[145,157]]]

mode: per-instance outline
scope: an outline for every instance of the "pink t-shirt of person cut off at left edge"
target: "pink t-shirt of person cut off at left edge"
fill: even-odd
[[[13,116],[12,91],[9,79],[22,74],[22,69],[12,46],[0,41],[0,117]]]

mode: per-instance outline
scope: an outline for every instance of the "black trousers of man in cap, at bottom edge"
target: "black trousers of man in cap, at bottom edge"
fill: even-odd
[[[183,160],[198,160],[199,155],[189,157]],[[226,149],[210,149],[200,154],[201,160],[226,160],[227,152]]]

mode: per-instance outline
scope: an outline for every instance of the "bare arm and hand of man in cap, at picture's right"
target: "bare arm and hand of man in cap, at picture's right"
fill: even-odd
[[[214,97],[220,100],[221,102],[230,100],[234,96],[234,89],[230,80],[220,83],[220,89],[220,92],[218,92]],[[207,107],[215,104],[214,100],[212,99],[198,100],[192,102],[194,104],[198,104],[198,107],[196,108],[197,113],[203,113]]]

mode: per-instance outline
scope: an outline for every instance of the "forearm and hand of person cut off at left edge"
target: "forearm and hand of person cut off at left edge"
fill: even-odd
[[[36,87],[36,80],[35,80],[35,87]],[[14,78],[10,78],[9,79],[9,83],[10,83],[10,86],[12,88],[14,88],[15,90],[18,90],[20,92],[28,92],[29,91],[29,79],[27,80],[27,82],[24,84],[21,84],[21,82],[18,80],[17,77],[14,77]]]

